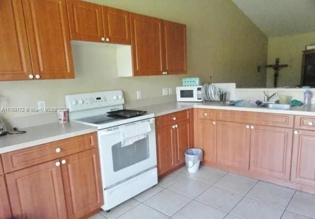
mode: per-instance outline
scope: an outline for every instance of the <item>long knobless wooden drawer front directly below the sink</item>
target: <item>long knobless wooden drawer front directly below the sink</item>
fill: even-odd
[[[249,125],[293,127],[294,116],[285,114],[221,110],[218,112],[218,120],[245,123]]]

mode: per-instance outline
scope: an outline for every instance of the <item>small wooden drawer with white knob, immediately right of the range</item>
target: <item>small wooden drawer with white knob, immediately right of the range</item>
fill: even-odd
[[[156,118],[157,128],[172,125],[180,121],[190,119],[190,110],[183,110],[176,113],[170,113]]]

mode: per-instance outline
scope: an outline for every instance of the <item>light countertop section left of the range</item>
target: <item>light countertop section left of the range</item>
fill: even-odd
[[[77,122],[50,123],[21,130],[25,134],[0,136],[0,154],[97,131],[97,127]]]

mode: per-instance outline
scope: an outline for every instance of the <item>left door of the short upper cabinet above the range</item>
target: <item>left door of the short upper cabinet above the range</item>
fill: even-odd
[[[104,31],[100,4],[67,0],[67,10],[71,39],[102,42]]]

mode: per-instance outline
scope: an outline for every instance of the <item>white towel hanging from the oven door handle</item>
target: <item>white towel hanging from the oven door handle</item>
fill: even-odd
[[[133,144],[147,136],[151,131],[148,121],[119,126],[122,147]]]

